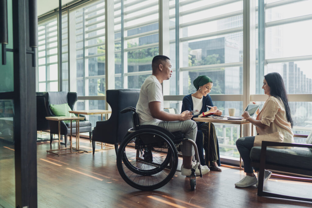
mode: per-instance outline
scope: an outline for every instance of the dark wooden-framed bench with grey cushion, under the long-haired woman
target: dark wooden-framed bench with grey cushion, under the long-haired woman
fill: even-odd
[[[297,147],[297,148],[293,149],[270,148],[272,146]],[[274,156],[274,158],[272,158],[272,156]],[[312,198],[286,196],[271,193],[268,191],[263,191],[264,169],[312,177],[312,144],[262,141],[261,147],[253,147],[251,149],[250,157],[252,159],[252,166],[259,168],[258,196],[269,196],[283,199],[312,202]],[[304,161],[302,158],[305,158]]]

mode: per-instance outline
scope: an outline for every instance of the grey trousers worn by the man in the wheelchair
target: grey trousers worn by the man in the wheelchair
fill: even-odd
[[[157,126],[166,129],[169,132],[181,131],[184,138],[196,140],[197,124],[193,120],[185,121],[161,121]],[[193,156],[195,154],[194,147],[189,142],[184,142],[181,146],[181,151],[184,156]]]

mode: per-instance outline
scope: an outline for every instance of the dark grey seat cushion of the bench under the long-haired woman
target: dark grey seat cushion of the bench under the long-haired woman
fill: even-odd
[[[260,161],[261,147],[253,147],[250,158]],[[266,149],[266,162],[312,170],[312,151],[309,148]]]

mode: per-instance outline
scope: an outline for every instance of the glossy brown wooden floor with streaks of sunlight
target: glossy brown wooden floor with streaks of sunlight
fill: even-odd
[[[309,202],[258,197],[256,186],[235,188],[234,183],[244,177],[244,173],[226,167],[222,167],[222,172],[211,171],[202,178],[197,177],[195,191],[190,190],[189,178],[180,172],[156,191],[139,191],[120,177],[114,149],[95,152],[95,155],[80,153],[61,157],[46,152],[56,149],[57,145],[57,141],[51,145],[37,143],[38,207],[312,207]],[[80,145],[85,149],[91,147],[86,139],[81,139]],[[3,146],[0,145],[0,151],[13,151],[12,146]],[[3,160],[0,157],[0,168]],[[9,187],[14,181],[14,174],[5,175],[5,181],[3,173],[0,175],[0,198],[10,192],[9,188],[4,191],[2,187]],[[269,179],[265,190],[312,197],[312,183],[307,182]],[[7,200],[12,202],[14,196],[10,198]]]

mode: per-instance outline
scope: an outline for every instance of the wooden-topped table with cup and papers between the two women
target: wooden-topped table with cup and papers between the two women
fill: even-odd
[[[207,122],[207,123],[227,123],[227,124],[240,125],[240,137],[242,137],[242,127],[243,127],[242,125],[250,123],[246,119],[228,120],[226,117],[222,118],[222,119],[213,119],[213,118],[209,118],[209,117],[198,117],[198,118],[194,118],[194,121]],[[208,135],[210,136],[210,124],[209,124]],[[253,135],[253,125],[252,124],[251,124],[251,135]],[[241,168],[241,156],[239,157],[239,167]]]

